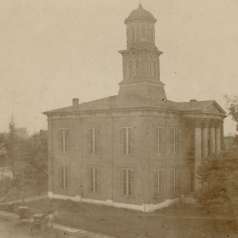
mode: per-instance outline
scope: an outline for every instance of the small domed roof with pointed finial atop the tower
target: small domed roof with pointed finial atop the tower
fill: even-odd
[[[148,22],[156,22],[156,18],[153,14],[147,10],[145,10],[141,4],[139,4],[138,8],[133,10],[130,15],[126,18],[125,23],[133,22],[133,21],[148,21]]]

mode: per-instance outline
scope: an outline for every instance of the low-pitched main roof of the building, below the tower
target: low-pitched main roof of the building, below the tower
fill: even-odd
[[[162,109],[167,111],[177,111],[182,113],[210,113],[210,114],[223,114],[226,112],[222,107],[214,100],[196,101],[191,100],[189,102],[174,102],[165,101],[159,103],[151,102],[134,102],[131,104],[120,104],[118,96],[105,97],[90,102],[81,103],[78,105],[71,105],[64,108],[59,108],[52,111],[44,112],[45,115],[57,115],[57,114],[71,114],[77,112],[93,112],[93,111],[105,111],[112,109],[138,109],[138,108],[153,108]]]

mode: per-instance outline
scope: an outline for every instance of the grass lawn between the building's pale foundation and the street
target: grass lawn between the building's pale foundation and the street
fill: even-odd
[[[41,211],[56,209],[60,224],[118,238],[229,237],[233,226],[229,219],[213,219],[191,206],[153,213],[49,199],[30,202],[29,206]]]

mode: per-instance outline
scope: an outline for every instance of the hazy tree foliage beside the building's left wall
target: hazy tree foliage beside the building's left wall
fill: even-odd
[[[0,145],[4,148],[4,153],[0,149],[0,159],[5,160],[4,164],[13,172],[11,181],[0,181],[0,194],[14,194],[23,198],[29,193],[47,190],[47,132],[40,131],[28,138],[21,138],[10,131],[0,136]]]

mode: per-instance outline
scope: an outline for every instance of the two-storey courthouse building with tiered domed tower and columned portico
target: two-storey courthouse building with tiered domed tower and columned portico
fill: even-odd
[[[45,112],[51,197],[151,211],[196,190],[198,166],[221,151],[215,101],[167,99],[155,23],[141,5],[126,18],[117,95]]]

